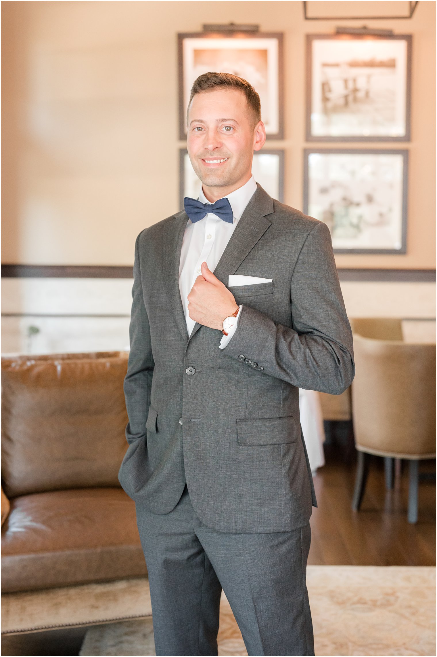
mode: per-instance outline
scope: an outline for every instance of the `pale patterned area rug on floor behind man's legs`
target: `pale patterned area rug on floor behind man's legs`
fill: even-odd
[[[308,566],[316,655],[435,655],[436,569]],[[152,618],[90,627],[80,654],[154,655]],[[224,593],[219,655],[247,655]]]

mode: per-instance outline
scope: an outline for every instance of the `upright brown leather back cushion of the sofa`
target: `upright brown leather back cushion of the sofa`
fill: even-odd
[[[128,447],[127,354],[2,358],[2,479],[9,499],[119,486]]]

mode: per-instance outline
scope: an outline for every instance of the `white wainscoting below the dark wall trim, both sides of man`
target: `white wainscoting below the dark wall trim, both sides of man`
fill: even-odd
[[[133,279],[3,278],[2,353],[129,349]],[[343,281],[349,317],[401,317],[409,342],[435,342],[435,283]],[[28,337],[30,327],[39,331]]]

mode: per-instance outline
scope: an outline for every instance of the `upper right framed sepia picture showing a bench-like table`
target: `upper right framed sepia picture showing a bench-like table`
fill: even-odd
[[[409,141],[411,34],[306,36],[306,141]]]

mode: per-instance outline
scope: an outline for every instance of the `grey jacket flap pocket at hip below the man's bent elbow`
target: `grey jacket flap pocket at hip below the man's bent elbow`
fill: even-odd
[[[238,444],[281,445],[297,440],[296,422],[293,415],[237,420]]]

